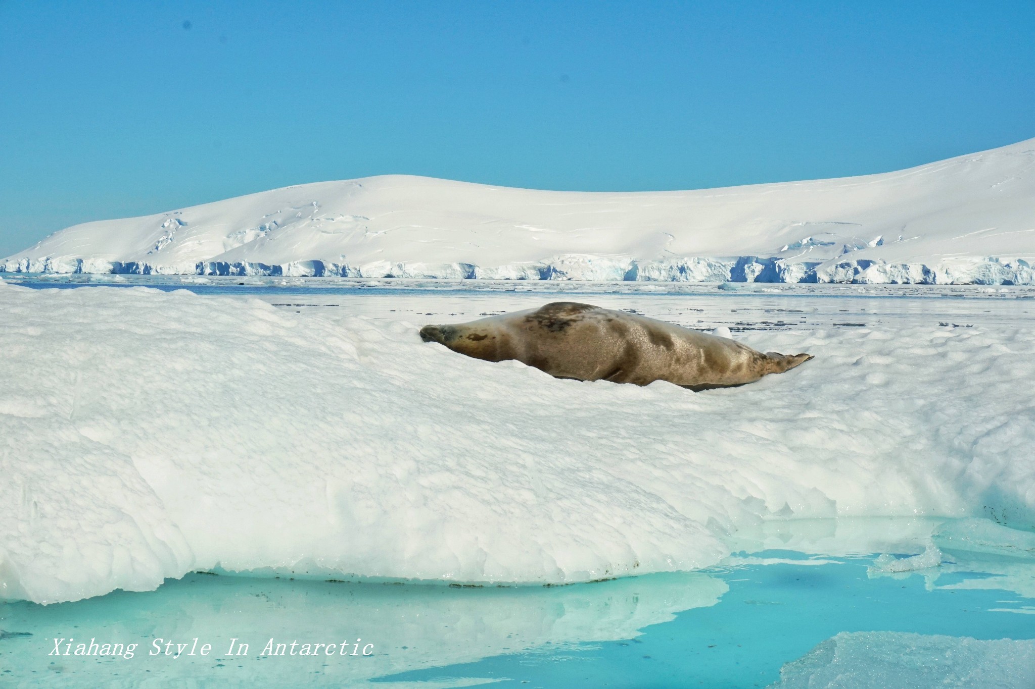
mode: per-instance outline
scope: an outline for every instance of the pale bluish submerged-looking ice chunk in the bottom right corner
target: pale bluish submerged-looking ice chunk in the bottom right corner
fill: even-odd
[[[1028,689],[1035,640],[841,632],[780,669],[770,689]]]

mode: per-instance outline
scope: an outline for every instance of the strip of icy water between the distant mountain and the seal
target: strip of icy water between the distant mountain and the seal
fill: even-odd
[[[198,294],[261,299],[301,316],[349,315],[405,320],[415,326],[460,322],[579,301],[633,310],[699,330],[732,332],[817,328],[938,327],[1030,324],[1035,287],[981,285],[798,285],[771,283],[525,282],[228,278],[201,276],[22,276],[31,287],[137,286],[189,289]]]

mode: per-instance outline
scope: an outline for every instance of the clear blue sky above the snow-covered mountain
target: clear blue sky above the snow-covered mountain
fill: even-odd
[[[1035,136],[1033,36],[1031,0],[0,0],[0,256],[388,173],[644,190],[907,167]]]

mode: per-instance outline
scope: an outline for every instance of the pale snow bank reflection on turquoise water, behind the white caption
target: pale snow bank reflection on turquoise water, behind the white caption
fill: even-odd
[[[0,676],[48,686],[138,686],[185,678],[223,686],[349,686],[417,668],[469,663],[505,653],[575,649],[628,639],[675,613],[714,605],[727,591],[703,573],[658,574],[568,587],[454,588],[189,574],[153,593],[36,605],[0,605]],[[194,639],[199,639],[197,647]],[[129,645],[132,658],[48,654],[54,638]],[[160,638],[154,647],[154,639]],[[247,644],[239,654],[232,639]],[[263,657],[265,645],[288,646]],[[361,640],[360,640],[361,639]],[[173,645],[167,647],[169,641]],[[342,655],[342,644],[349,647]],[[66,649],[66,643],[59,648]],[[183,647],[176,657],[177,645]],[[212,649],[200,655],[203,645]],[[303,644],[321,644],[301,656]],[[326,645],[333,644],[331,655]],[[359,649],[356,648],[359,645]],[[362,657],[361,650],[371,655]],[[158,651],[160,649],[160,651]],[[195,655],[187,655],[194,650]],[[166,655],[166,652],[169,655]],[[155,653],[155,655],[150,655]],[[356,653],[357,655],[352,655]],[[175,684],[175,683],[174,683]],[[452,686],[463,686],[451,683]]]

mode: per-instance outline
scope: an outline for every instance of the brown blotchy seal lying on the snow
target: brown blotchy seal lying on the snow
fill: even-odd
[[[574,302],[425,325],[420,338],[486,362],[516,359],[557,378],[634,385],[668,380],[692,390],[743,385],[812,358],[763,354],[729,338]]]

